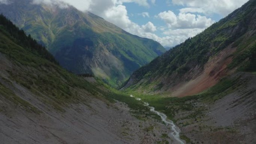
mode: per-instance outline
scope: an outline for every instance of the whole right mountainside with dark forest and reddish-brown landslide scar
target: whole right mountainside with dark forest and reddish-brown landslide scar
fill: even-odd
[[[186,96],[235,71],[256,71],[256,1],[135,71],[123,89]]]

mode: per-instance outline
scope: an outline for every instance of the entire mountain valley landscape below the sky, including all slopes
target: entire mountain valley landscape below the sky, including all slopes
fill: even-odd
[[[1,143],[256,143],[256,0],[167,52],[73,6],[0,12]]]

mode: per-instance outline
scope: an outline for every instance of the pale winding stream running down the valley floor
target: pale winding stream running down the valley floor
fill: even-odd
[[[133,95],[130,95],[131,97],[134,97]],[[136,98],[138,101],[141,101],[140,98]],[[162,121],[167,125],[171,126],[171,132],[169,134],[169,137],[173,137],[179,144],[185,144],[181,139],[180,139],[180,129],[174,125],[173,121],[168,120],[167,116],[164,113],[160,113],[159,111],[156,111],[154,107],[150,107],[149,103],[144,102],[144,105],[150,108],[150,111],[153,113],[156,113],[158,116],[161,117]]]

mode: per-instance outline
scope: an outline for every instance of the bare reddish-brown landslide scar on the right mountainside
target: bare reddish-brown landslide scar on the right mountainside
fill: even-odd
[[[171,89],[172,96],[194,95],[216,85],[222,77],[232,73],[227,70],[227,66],[232,62],[232,53],[235,50],[236,48],[229,46],[210,58],[204,66],[203,73],[189,82],[176,85]]]

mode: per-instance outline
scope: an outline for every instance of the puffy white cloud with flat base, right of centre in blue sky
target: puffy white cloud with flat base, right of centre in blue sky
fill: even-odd
[[[192,13],[179,13],[175,15],[174,12],[161,12],[158,17],[164,20],[169,28],[206,28],[214,23],[210,18],[201,15],[194,15]]]

